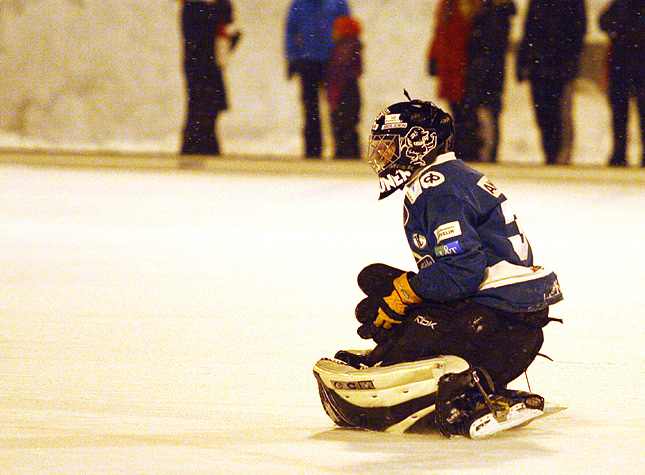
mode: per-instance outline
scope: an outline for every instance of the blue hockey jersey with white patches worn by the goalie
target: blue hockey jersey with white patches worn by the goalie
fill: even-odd
[[[405,233],[418,267],[409,280],[421,298],[469,299],[509,312],[562,300],[557,276],[533,265],[506,197],[454,153],[420,170],[405,191]]]

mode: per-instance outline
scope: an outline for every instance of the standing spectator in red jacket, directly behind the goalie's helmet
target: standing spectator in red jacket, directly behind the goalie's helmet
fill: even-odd
[[[464,161],[478,160],[476,124],[466,107],[468,41],[482,0],[441,0],[428,48],[428,73],[439,78],[437,95],[448,102],[455,123],[454,152]]]

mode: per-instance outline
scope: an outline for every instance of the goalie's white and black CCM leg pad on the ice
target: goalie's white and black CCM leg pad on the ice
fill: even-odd
[[[323,408],[337,425],[404,432],[433,413],[439,378],[469,367],[458,356],[362,369],[323,358],[314,376]]]

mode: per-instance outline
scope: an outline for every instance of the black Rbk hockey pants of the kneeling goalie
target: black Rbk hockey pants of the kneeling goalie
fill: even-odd
[[[537,356],[548,322],[548,308],[508,313],[470,301],[424,303],[411,308],[404,322],[369,355],[371,365],[392,365],[439,355],[459,356],[488,372],[504,387]]]

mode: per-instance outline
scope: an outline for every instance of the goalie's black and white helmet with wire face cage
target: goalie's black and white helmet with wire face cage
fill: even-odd
[[[409,100],[384,109],[372,125],[367,154],[381,183],[379,199],[402,189],[415,171],[451,151],[454,134],[450,114],[430,101]]]

